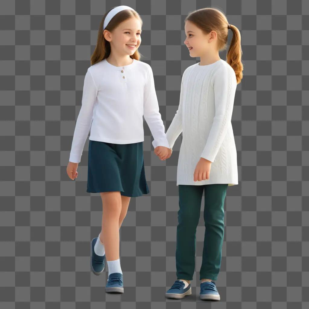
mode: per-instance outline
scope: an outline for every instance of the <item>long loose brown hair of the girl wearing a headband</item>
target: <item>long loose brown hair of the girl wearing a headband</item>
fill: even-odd
[[[114,6],[116,7],[116,6]],[[111,11],[114,7],[112,7],[110,10],[108,10],[101,20],[100,26],[99,26],[99,32],[98,32],[98,38],[97,38],[97,44],[95,46],[95,50],[93,54],[91,55],[90,63],[91,66],[99,61],[104,60],[107,58],[111,53],[111,44],[109,41],[105,40],[103,32],[104,30],[108,30],[112,32],[115,28],[118,27],[120,23],[123,21],[129,19],[129,18],[137,18],[140,20],[141,24],[143,24],[142,18],[138,14],[138,12],[134,10],[122,10],[118,12],[113,18],[110,20],[106,28],[103,30],[104,20],[106,18],[106,15],[109,11]],[[135,53],[133,55],[130,55],[130,58],[139,60],[141,57],[141,54],[138,52],[138,49],[136,49]]]

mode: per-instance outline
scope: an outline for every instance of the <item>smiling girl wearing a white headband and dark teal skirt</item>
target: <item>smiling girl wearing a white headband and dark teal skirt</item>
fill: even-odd
[[[103,17],[91,66],[85,75],[67,173],[73,180],[89,129],[87,192],[100,193],[102,229],[91,241],[91,269],[108,264],[106,292],[123,293],[119,229],[131,197],[149,193],[143,158],[143,116],[158,156],[169,143],[159,113],[153,72],[139,61],[142,19],[129,6],[116,6]],[[105,253],[106,250],[106,253]]]

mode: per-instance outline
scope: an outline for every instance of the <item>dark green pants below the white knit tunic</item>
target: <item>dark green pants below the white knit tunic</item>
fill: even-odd
[[[217,280],[221,266],[224,235],[224,200],[227,186],[228,184],[178,185],[177,279],[193,280],[196,228],[201,213],[203,191],[205,190],[205,236],[200,280]]]

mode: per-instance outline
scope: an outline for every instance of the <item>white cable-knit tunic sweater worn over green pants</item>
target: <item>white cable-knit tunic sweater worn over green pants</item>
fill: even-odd
[[[196,63],[183,73],[178,110],[166,136],[170,147],[182,132],[177,165],[179,184],[238,184],[237,152],[231,124],[237,86],[233,68],[220,59]],[[194,181],[200,158],[210,160],[207,180]]]

